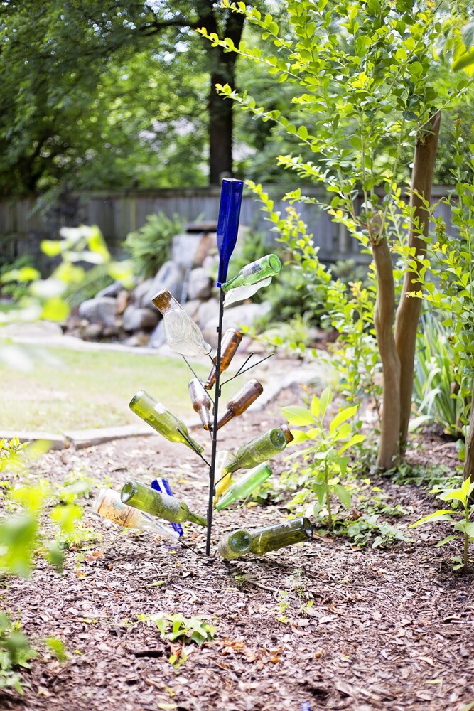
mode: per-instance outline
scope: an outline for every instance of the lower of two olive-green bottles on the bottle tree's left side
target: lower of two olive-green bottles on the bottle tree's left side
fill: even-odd
[[[161,493],[152,489],[151,486],[141,484],[139,481],[126,481],[122,492],[120,493],[122,503],[128,504],[133,508],[139,508],[141,511],[151,513],[152,516],[164,518],[172,523],[183,523],[183,521],[191,521],[198,523],[200,526],[207,526],[208,522],[199,516],[197,513],[191,513],[184,501],[175,496],[168,496],[167,493]]]

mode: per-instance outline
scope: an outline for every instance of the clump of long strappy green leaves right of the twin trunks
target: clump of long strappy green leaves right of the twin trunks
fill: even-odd
[[[431,311],[421,317],[421,323],[414,378],[416,422],[436,422],[446,434],[458,437],[469,419],[470,380],[458,381],[451,328]]]

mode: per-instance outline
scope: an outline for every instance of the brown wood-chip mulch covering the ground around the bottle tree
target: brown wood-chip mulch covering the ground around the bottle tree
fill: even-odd
[[[279,405],[290,402],[297,402],[295,392],[282,392]],[[220,449],[235,449],[274,424],[281,424],[274,404],[244,415],[227,434],[222,430]],[[193,435],[204,442],[203,431]],[[456,464],[453,444],[436,436],[410,456],[422,465]],[[273,464],[278,476],[283,456]],[[149,482],[162,472],[190,508],[206,508],[208,470],[186,447],[161,437],[52,451],[38,465],[38,474],[52,481],[73,472],[112,480],[117,489],[131,477]],[[416,486],[372,483],[392,506],[409,511],[404,526],[437,508]],[[29,579],[11,579],[3,591],[28,636],[60,638],[70,657],[60,663],[40,656],[24,675],[25,695],[3,693],[1,709],[473,707],[473,576],[451,570],[454,545],[435,547],[448,533],[442,525],[415,529],[414,542],[389,550],[315,533],[308,543],[225,562],[215,545],[212,557],[203,555],[205,534],[196,526],[185,535],[189,550],[119,529],[92,513],[91,503],[85,523],[102,540],[68,551],[63,574],[38,559]],[[231,507],[215,515],[213,542],[227,530],[274,523],[287,513],[281,504]],[[183,650],[154,624],[136,620],[159,613],[198,616],[217,633]],[[173,668],[168,658],[182,651],[187,661]]]

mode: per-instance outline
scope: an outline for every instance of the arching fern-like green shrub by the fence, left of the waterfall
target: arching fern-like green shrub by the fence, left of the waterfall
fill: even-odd
[[[179,215],[166,217],[165,213],[148,215],[146,223],[136,232],[130,232],[124,247],[134,262],[135,274],[144,279],[154,277],[170,257],[171,242],[183,232],[185,220]]]

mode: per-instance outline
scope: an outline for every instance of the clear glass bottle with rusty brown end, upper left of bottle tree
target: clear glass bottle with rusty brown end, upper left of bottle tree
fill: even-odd
[[[212,348],[206,343],[198,324],[186,314],[183,306],[176,301],[168,289],[161,289],[153,296],[153,304],[163,314],[163,328],[166,343],[176,353],[187,355],[208,355]]]

